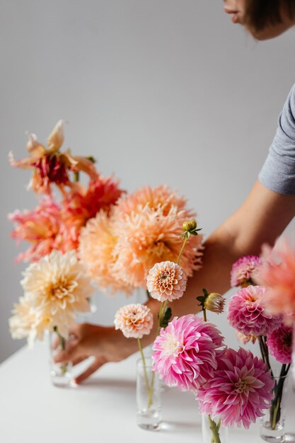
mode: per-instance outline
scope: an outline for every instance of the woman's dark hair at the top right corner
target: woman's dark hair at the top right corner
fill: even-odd
[[[282,11],[290,18],[295,16],[294,0],[246,0],[245,4],[246,25],[255,31],[282,23]]]

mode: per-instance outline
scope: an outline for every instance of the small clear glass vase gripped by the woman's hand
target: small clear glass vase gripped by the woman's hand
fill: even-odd
[[[57,352],[64,350],[66,340],[54,330],[49,334],[50,338],[50,377],[52,384],[59,387],[71,386],[72,381],[72,364],[69,363],[55,363],[54,356]]]

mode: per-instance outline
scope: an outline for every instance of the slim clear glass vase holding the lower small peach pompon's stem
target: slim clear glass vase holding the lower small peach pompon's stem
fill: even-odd
[[[137,425],[154,431],[161,425],[161,383],[151,357],[137,360]]]

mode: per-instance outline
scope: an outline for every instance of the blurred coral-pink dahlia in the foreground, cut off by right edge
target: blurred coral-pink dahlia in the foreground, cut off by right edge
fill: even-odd
[[[287,239],[262,249],[259,277],[266,291],[262,303],[273,314],[295,314],[295,247]]]

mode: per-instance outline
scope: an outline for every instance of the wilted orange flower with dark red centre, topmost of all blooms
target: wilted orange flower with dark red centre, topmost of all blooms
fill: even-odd
[[[68,171],[83,171],[91,178],[96,179],[98,173],[93,162],[86,157],[72,156],[70,150],[60,152],[64,142],[64,120],[59,120],[47,139],[47,146],[37,141],[35,134],[28,134],[28,159],[15,161],[12,154],[9,156],[11,166],[23,169],[33,169],[33,177],[29,187],[35,192],[51,194],[51,185],[55,183],[64,192],[64,186],[71,186]]]

